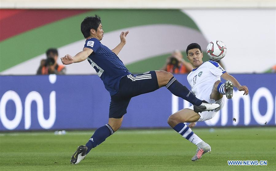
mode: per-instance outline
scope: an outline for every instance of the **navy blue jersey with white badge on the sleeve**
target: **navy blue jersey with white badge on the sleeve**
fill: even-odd
[[[84,48],[93,50],[87,60],[103,80],[103,84],[110,95],[115,95],[119,89],[121,78],[131,73],[119,57],[108,47],[101,44],[98,39],[87,39]]]

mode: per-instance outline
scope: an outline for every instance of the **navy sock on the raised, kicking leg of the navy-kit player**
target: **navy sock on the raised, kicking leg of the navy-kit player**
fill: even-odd
[[[197,99],[196,96],[192,93],[192,91],[190,91],[187,87],[179,83],[174,77],[172,77],[169,80],[169,83],[166,85],[166,88],[174,95],[187,100],[193,105],[199,106],[202,103],[202,100]]]

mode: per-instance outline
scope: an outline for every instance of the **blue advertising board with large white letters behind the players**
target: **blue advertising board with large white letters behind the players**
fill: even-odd
[[[234,91],[206,126],[275,126],[276,74],[233,74],[249,95]],[[187,75],[175,75],[187,87]],[[0,76],[0,131],[94,129],[108,121],[109,93],[95,75]],[[122,128],[169,127],[167,118],[190,104],[166,88],[134,97]],[[236,121],[233,121],[233,118]]]

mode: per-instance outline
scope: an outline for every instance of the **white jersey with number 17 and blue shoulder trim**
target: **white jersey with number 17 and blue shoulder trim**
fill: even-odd
[[[210,102],[213,85],[226,71],[215,61],[209,60],[193,69],[187,76],[191,91],[198,99]]]

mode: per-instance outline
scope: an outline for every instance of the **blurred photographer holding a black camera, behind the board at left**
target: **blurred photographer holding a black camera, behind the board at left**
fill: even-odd
[[[57,49],[51,48],[46,51],[46,59],[40,61],[40,66],[37,69],[37,74],[65,74],[66,68],[62,64],[57,64],[58,52]]]

